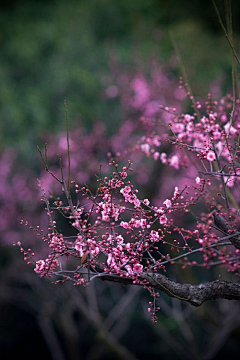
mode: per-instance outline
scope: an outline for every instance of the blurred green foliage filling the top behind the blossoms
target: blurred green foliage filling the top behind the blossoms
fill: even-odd
[[[15,1],[0,13],[0,141],[34,166],[44,132],[71,126],[109,129],[123,117],[117,101],[103,101],[102,76],[114,52],[134,71],[139,59],[171,62],[176,35],[189,81],[200,96],[230,76],[230,51],[210,1]],[[220,10],[224,10],[220,2]],[[237,8],[238,9],[238,8]],[[238,14],[238,11],[234,14]],[[239,26],[239,24],[237,23]],[[136,58],[138,59],[136,61]],[[173,69],[178,64],[173,62]],[[181,75],[180,71],[177,71]]]

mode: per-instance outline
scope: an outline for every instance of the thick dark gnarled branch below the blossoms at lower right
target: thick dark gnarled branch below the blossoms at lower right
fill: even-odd
[[[102,272],[101,266],[95,270]],[[133,284],[133,279],[117,275],[104,274],[102,280],[114,281],[124,285]],[[200,306],[205,301],[215,299],[240,300],[240,284],[224,280],[215,280],[199,285],[180,284],[168,279],[165,275],[156,273],[142,273],[138,285],[146,284],[154,289],[165,292],[171,297]]]

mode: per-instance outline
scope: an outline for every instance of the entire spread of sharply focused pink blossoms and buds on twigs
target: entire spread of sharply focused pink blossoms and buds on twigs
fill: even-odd
[[[160,107],[131,152],[110,159],[95,189],[72,181],[70,194],[64,177],[55,176],[65,200],[44,195],[48,232],[35,229],[47,256],[36,258],[20,245],[34,271],[75,285],[127,279],[151,294],[146,276],[168,274],[173,266],[221,266],[239,276],[240,117],[232,106],[230,95],[216,102],[209,94],[205,104],[193,104],[192,114]],[[147,196],[134,178],[138,154],[161,172]],[[132,156],[127,165],[123,155]],[[57,230],[59,214],[68,221],[65,231]]]

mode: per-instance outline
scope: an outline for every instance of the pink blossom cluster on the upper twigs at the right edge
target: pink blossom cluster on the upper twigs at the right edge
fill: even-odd
[[[236,104],[239,106],[239,100]],[[159,184],[161,199],[168,194],[170,182],[174,186],[173,179],[170,179],[172,174],[177,176],[179,187],[195,179],[199,186],[211,186],[214,183],[221,191],[232,188],[236,195],[240,178],[237,161],[240,125],[239,114],[237,111],[232,112],[232,106],[230,95],[217,102],[209,94],[205,104],[193,105],[193,114],[179,113],[176,108],[160,107],[163,114],[167,113],[168,116],[160,116],[155,121],[155,129],[151,127],[136,149],[164,165],[162,173],[169,176],[169,182],[167,185],[163,182]],[[148,122],[145,119],[142,121]],[[156,136],[161,145],[150,146]]]

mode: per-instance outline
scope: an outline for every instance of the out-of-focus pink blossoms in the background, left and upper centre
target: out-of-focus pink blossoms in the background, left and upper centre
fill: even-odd
[[[116,62],[116,59],[114,60]],[[119,123],[118,129],[114,129],[112,135],[108,134],[108,127],[105,122],[96,121],[91,132],[83,126],[78,126],[70,131],[71,151],[71,175],[79,184],[87,183],[91,188],[95,186],[95,174],[101,163],[102,173],[109,172],[107,153],[118,155],[124,154],[136,143],[139,133],[142,132],[139,124],[140,114],[147,116],[156,114],[160,103],[167,104],[172,101],[180,106],[179,90],[176,91],[176,81],[172,70],[163,69],[157,60],[151,60],[149,75],[146,75],[146,68],[139,67],[134,70],[123,69],[120,64],[111,64],[111,75],[103,76],[102,83],[105,87],[102,100],[106,103],[114,98],[121,106],[124,113],[123,118],[127,119]],[[144,94],[145,95],[144,95]],[[143,94],[143,95],[141,95]],[[154,111],[152,105],[154,105]],[[112,120],[112,119],[111,119]],[[115,119],[114,119],[115,122]],[[66,146],[66,133],[57,135],[39,135],[43,142],[47,142],[48,162],[51,170],[58,176],[60,174],[59,163],[56,154],[61,154],[63,171],[67,169],[68,155]],[[136,165],[134,173],[137,184],[147,184],[154,164],[143,163],[144,153],[138,152],[134,155]],[[46,193],[61,193],[59,183],[42,167],[39,157],[34,162],[35,171],[27,168],[25,162],[19,161],[18,153],[14,148],[1,150],[0,161],[0,203],[1,207],[1,239],[3,244],[12,244],[24,239],[25,244],[33,246],[31,233],[19,226],[19,219],[28,219],[32,226],[39,225],[47,227],[47,219],[42,211],[42,206],[35,199],[39,196],[39,188],[36,179],[40,179]],[[64,175],[66,176],[66,173]],[[38,245],[39,246],[39,245]]]

